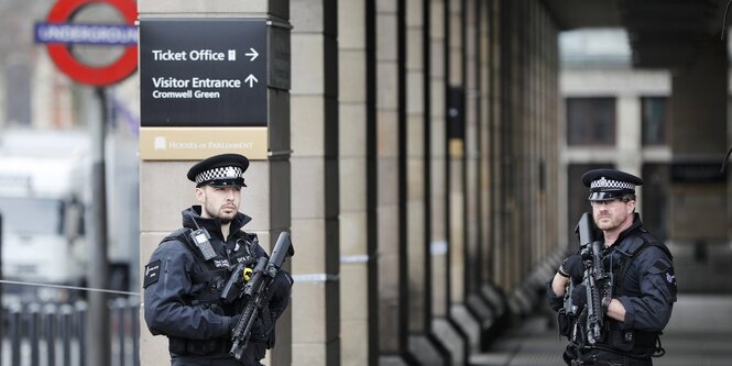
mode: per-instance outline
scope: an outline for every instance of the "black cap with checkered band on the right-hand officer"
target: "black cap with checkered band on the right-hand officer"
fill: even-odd
[[[582,184],[590,188],[590,202],[635,199],[635,186],[643,179],[615,169],[594,169],[582,175]]]

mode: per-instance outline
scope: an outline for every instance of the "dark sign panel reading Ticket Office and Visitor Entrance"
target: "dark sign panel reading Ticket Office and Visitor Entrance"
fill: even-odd
[[[266,126],[265,19],[141,19],[141,125]]]

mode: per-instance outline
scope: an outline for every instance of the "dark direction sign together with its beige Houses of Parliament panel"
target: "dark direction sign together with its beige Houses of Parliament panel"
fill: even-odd
[[[266,158],[270,75],[276,65],[270,56],[270,23],[252,18],[140,20],[143,160],[230,152]]]

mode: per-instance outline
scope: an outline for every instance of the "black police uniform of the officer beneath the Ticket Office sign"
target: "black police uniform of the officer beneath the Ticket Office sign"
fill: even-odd
[[[219,160],[214,159],[215,163]],[[210,160],[204,167],[210,168]],[[243,169],[236,174],[240,175]],[[217,175],[206,178],[198,181],[198,186],[210,181],[208,178],[216,179]],[[236,184],[243,186],[243,180]],[[223,240],[220,220],[201,218],[200,213],[200,206],[184,210],[183,228],[161,242],[145,266],[145,322],[153,335],[168,337],[173,366],[260,365],[265,350],[274,345],[274,322],[287,307],[292,278],[286,271],[280,271],[272,285],[269,307],[253,326],[244,359],[242,363],[233,359],[229,355],[231,330],[245,303],[243,299],[223,303],[219,297],[238,263],[253,267],[266,253],[255,234],[241,231],[251,220],[249,217],[238,212],[229,226],[231,234]],[[198,228],[207,230],[211,236],[216,256],[208,260],[188,237]]]

